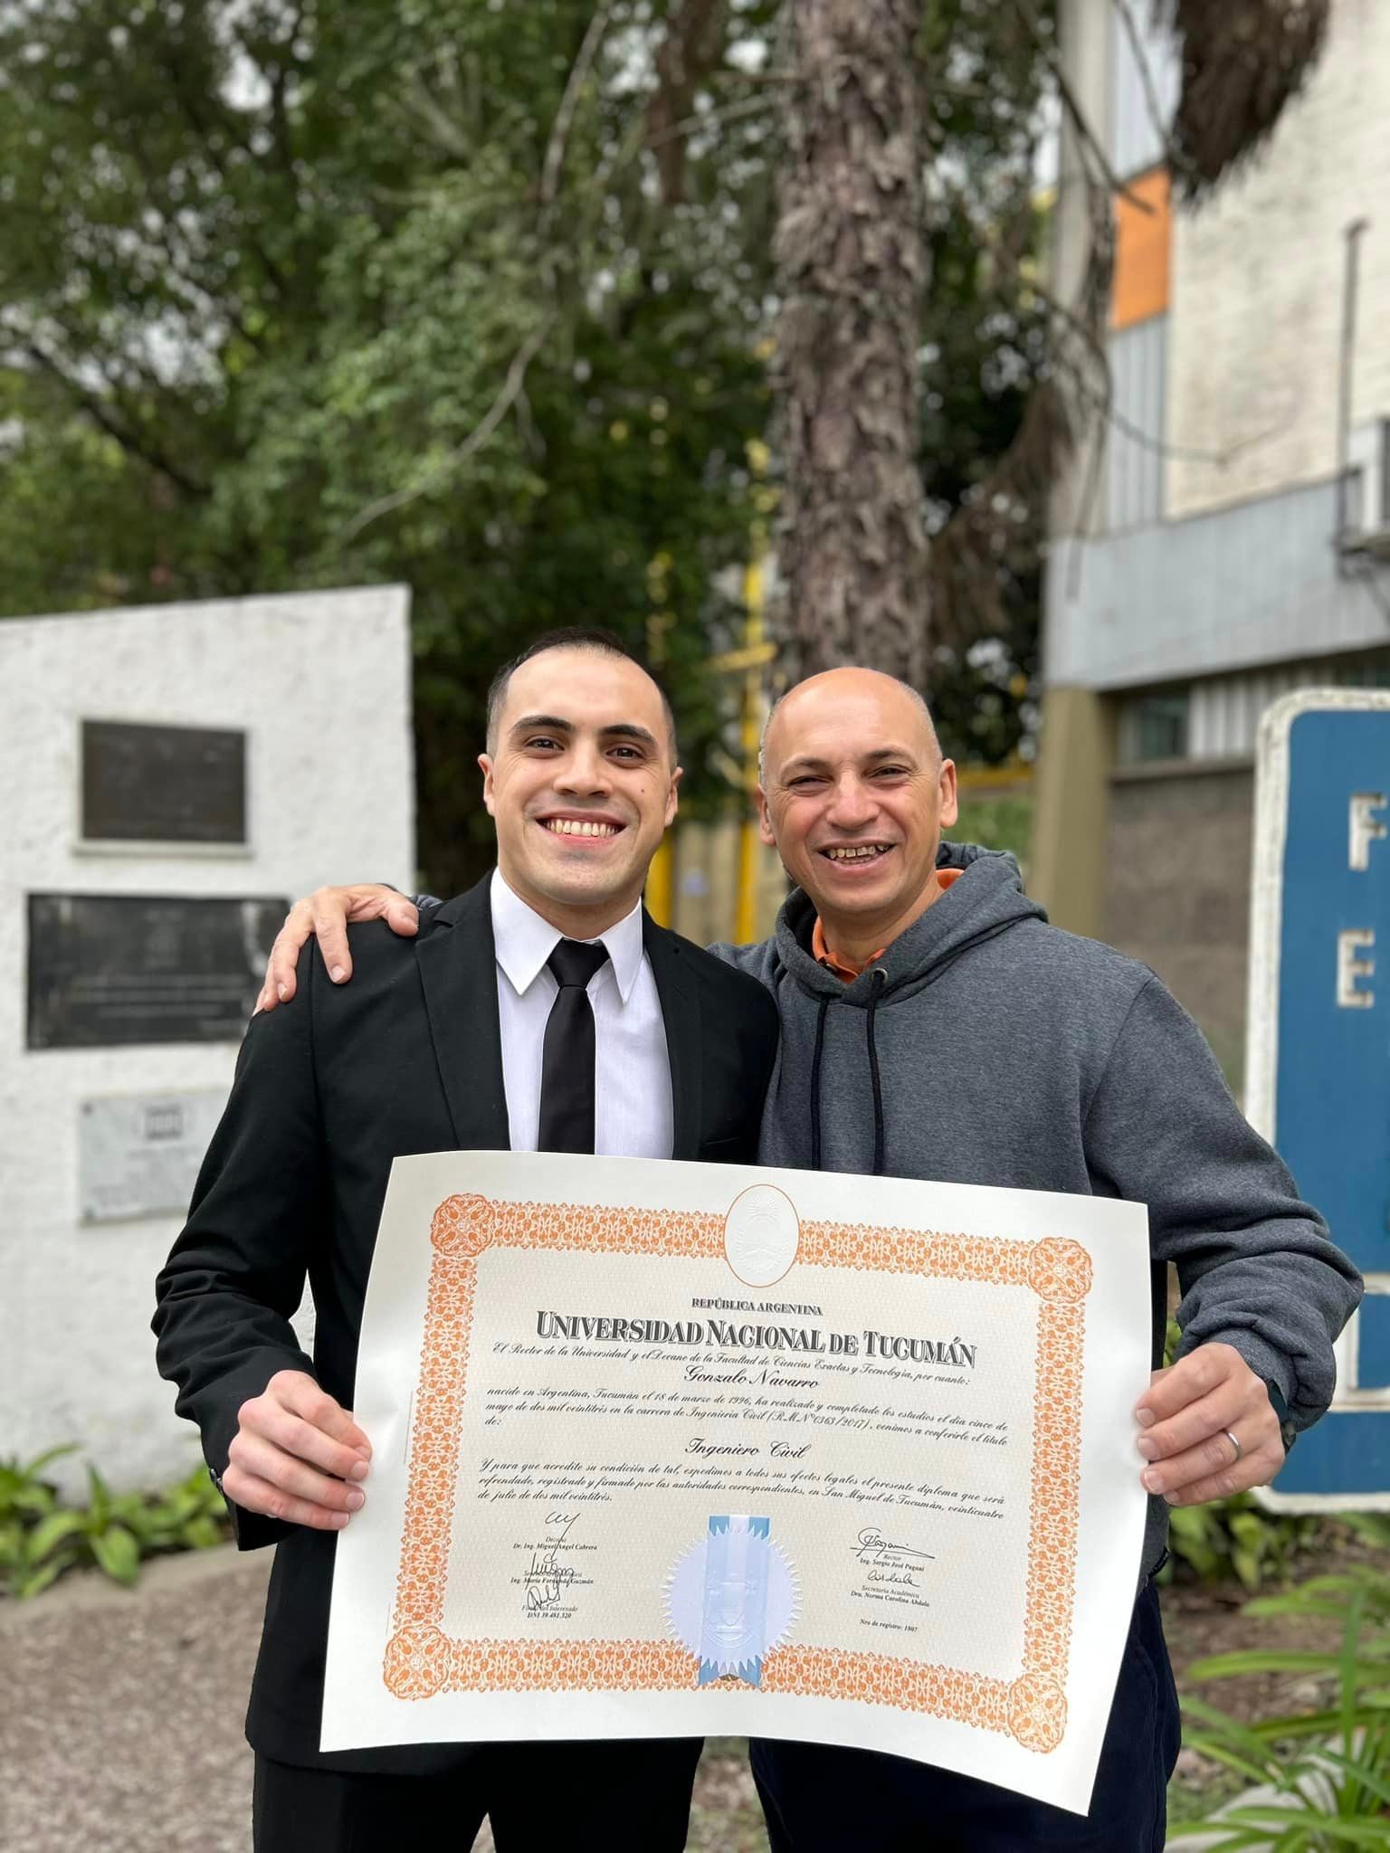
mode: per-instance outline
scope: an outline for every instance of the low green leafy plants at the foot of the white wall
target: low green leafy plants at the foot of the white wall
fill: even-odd
[[[63,1505],[43,1469],[70,1453],[52,1447],[28,1462],[0,1460],[0,1592],[37,1595],[83,1564],[130,1586],[143,1558],[226,1538],[226,1505],[204,1468],[163,1494],[113,1494],[89,1464],[85,1505]]]

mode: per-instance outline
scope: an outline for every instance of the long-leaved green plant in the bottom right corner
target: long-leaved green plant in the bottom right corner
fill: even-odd
[[[1390,1521],[1357,1514],[1344,1523],[1390,1553]],[[1188,1679],[1299,1673],[1323,1679],[1331,1703],[1244,1725],[1203,1699],[1184,1697],[1188,1747],[1244,1777],[1257,1794],[1188,1823],[1169,1846],[1216,1833],[1221,1838],[1210,1842],[1212,1853],[1390,1849],[1390,1571],[1360,1564],[1342,1575],[1312,1577],[1284,1595],[1247,1603],[1245,1614],[1333,1618],[1342,1640],[1331,1651],[1255,1647],[1212,1655],[1190,1666]]]

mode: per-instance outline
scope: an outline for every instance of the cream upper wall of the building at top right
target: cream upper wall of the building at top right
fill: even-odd
[[[1390,413],[1390,6],[1336,0],[1307,93],[1266,148],[1173,222],[1168,511],[1336,467],[1344,232],[1362,243],[1353,422]]]

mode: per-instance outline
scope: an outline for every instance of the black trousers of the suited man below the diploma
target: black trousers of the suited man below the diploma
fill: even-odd
[[[680,1853],[701,1738],[487,1744],[443,1775],[352,1775],[256,1757],[256,1853],[467,1853],[484,1816],[497,1853]]]

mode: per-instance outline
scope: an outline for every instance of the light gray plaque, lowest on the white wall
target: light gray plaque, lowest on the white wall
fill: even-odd
[[[132,1093],[83,1101],[78,1116],[82,1219],[183,1216],[226,1093]]]

